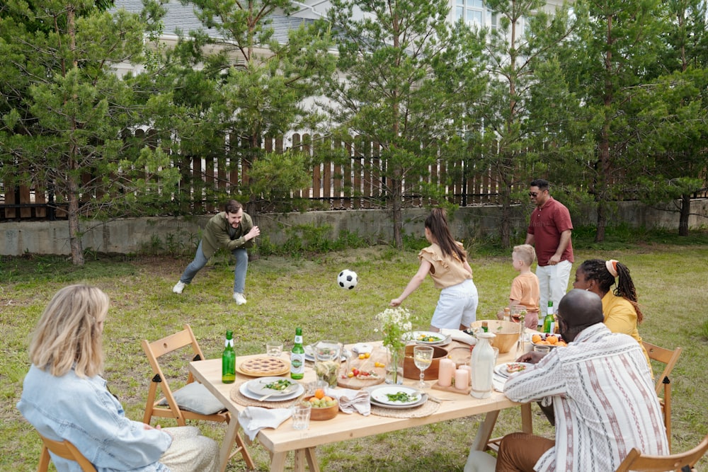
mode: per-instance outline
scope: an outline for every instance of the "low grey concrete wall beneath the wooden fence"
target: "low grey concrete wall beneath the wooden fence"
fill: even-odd
[[[678,213],[673,204],[650,208],[638,202],[622,202],[610,219],[627,222],[630,226],[647,228],[678,228]],[[513,208],[512,227],[517,234],[525,234],[530,207]],[[708,200],[694,200],[691,206],[690,228],[708,225]],[[423,237],[423,221],[427,209],[406,209],[403,226],[406,234]],[[595,224],[594,210],[571,212],[575,226]],[[83,221],[84,249],[101,253],[139,253],[164,250],[168,247],[193,251],[200,237],[200,229],[210,216],[193,218],[127,218],[105,223]],[[372,241],[389,242],[393,238],[390,214],[384,210],[330,211],[289,214],[261,214],[254,218],[271,243],[287,239],[287,229],[298,225],[331,226],[331,236],[348,230]],[[501,212],[499,207],[464,207],[450,217],[452,232],[457,239],[495,235]],[[0,255],[70,254],[69,224],[67,221],[22,221],[0,224]]]

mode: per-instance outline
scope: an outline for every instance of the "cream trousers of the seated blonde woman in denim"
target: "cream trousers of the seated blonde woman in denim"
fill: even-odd
[[[217,472],[219,470],[219,445],[202,436],[198,427],[166,427],[172,434],[172,444],[162,454],[160,463],[172,472]]]

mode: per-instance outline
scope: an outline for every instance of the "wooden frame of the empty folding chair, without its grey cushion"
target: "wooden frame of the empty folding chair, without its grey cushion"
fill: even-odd
[[[174,398],[173,390],[169,385],[169,379],[164,374],[164,369],[160,366],[160,357],[170,354],[182,349],[190,350],[191,360],[198,361],[204,360],[204,353],[197,343],[197,338],[195,338],[192,328],[185,324],[183,330],[173,335],[166,336],[165,338],[153,341],[152,343],[148,340],[142,340],[142,349],[147,356],[147,360],[152,367],[152,372],[154,374],[152,381],[150,382],[150,388],[147,393],[147,404],[145,405],[145,413],[143,415],[142,422],[149,425],[153,417],[157,418],[173,418],[177,421],[179,426],[185,426],[186,420],[199,420],[199,421],[215,421],[215,422],[225,422],[229,423],[232,420],[231,414],[228,410],[215,413],[212,415],[202,415],[200,413],[195,413],[193,411],[183,410],[177,404]],[[194,381],[192,373],[189,372],[187,377],[187,384],[191,384]],[[157,398],[157,388],[160,388],[163,398]],[[167,405],[159,405],[163,403],[163,399],[167,401]],[[246,443],[241,437],[241,434],[236,433],[232,441],[236,444],[236,449],[232,451],[229,458],[233,457],[238,452],[246,461],[248,468],[255,468],[253,459],[249,451],[246,449]]]

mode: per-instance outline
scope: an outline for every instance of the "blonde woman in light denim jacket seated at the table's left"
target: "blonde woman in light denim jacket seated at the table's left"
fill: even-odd
[[[103,324],[108,296],[96,287],[59,290],[42,313],[32,366],[17,408],[45,437],[68,440],[101,471],[216,471],[219,448],[195,427],[152,427],[125,418],[105,386]],[[79,471],[52,454],[57,471]]]

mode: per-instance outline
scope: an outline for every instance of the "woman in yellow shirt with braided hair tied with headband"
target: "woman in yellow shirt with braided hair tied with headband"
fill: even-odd
[[[614,290],[612,285],[617,284]],[[639,343],[641,336],[637,326],[644,320],[644,314],[637,303],[636,289],[629,268],[617,260],[590,259],[583,262],[576,270],[574,289],[585,289],[603,299],[605,325],[613,333],[632,336]],[[644,357],[649,363],[649,355],[644,350]],[[651,364],[649,364],[651,367]]]

